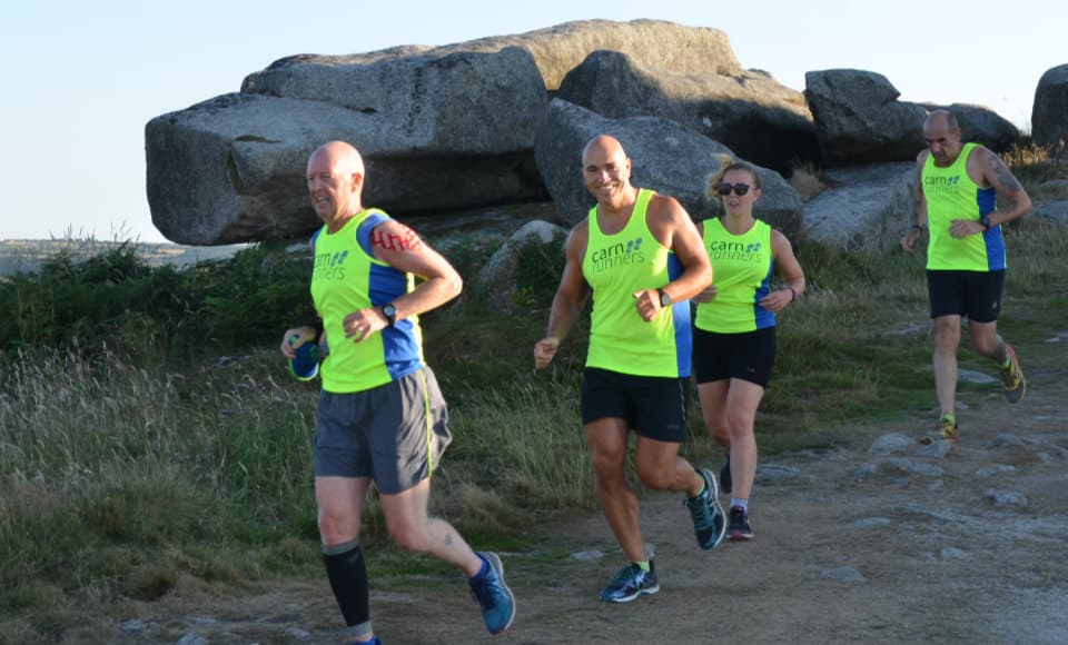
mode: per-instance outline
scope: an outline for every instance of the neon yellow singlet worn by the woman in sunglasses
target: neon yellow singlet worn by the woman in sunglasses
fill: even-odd
[[[771,227],[758,219],[748,231],[732,235],[720,218],[706,219],[702,237],[715,270],[715,299],[698,304],[694,326],[716,334],[774,327],[775,315],[758,305],[771,288]]]

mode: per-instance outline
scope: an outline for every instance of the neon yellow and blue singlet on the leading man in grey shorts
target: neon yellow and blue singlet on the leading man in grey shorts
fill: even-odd
[[[326,391],[363,391],[423,367],[423,337],[417,317],[398,320],[395,327],[372,334],[362,343],[345,338],[346,316],[390,302],[414,288],[414,276],[372,255],[372,230],[386,219],[388,216],[380,210],[368,209],[337,232],[330,234],[324,226],[313,238],[312,299],[323,318],[330,348],[319,369]]]

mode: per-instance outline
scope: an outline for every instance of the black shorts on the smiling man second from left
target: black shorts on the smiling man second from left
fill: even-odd
[[[582,424],[619,417],[657,441],[686,440],[690,378],[633,376],[596,367],[582,373]]]

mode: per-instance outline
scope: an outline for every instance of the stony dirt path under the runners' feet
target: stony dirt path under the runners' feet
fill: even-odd
[[[854,428],[835,452],[762,464],[749,544],[694,544],[676,496],[643,500],[661,592],[601,605],[622,564],[600,516],[553,533],[556,564],[503,554],[518,599],[515,625],[492,639],[457,579],[378,591],[375,626],[389,644],[547,643],[1066,643],[1068,642],[1068,408],[1055,373],[1029,375],[1008,406],[991,386],[962,397],[963,438],[946,457],[904,443],[922,424]],[[1052,394],[1050,394],[1052,393]],[[718,466],[718,465],[716,465]],[[545,530],[546,527],[542,527]],[[324,576],[325,578],[325,576]],[[245,597],[181,593],[136,612],[139,622],[87,625],[63,642],[337,643],[325,579]]]

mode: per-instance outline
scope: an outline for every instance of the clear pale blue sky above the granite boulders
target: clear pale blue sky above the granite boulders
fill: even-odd
[[[1060,1],[154,0],[8,3],[0,21],[0,239],[165,241],[145,195],[145,123],[240,88],[295,53],[446,44],[570,20],[713,27],[745,68],[886,76],[908,101],[985,105],[1030,129],[1041,75],[1068,63]]]

